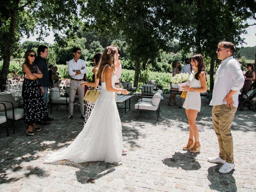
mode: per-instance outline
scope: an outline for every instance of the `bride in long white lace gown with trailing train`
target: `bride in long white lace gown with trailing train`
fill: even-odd
[[[118,163],[122,158],[122,125],[115,102],[115,92],[128,94],[126,89],[114,87],[116,63],[119,54],[116,47],[104,49],[97,78],[101,78],[102,90],[83,130],[64,150],[51,152],[46,162],[68,159],[73,162],[104,161]]]

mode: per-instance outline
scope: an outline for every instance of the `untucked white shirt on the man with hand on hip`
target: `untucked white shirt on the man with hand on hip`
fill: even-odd
[[[223,102],[230,90],[236,91],[232,96],[234,106],[238,107],[238,95],[244,85],[244,75],[240,68],[240,63],[233,56],[226,58],[221,62],[215,74],[214,88],[210,105],[227,104]]]

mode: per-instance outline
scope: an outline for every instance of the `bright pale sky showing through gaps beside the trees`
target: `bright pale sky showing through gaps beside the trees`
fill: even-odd
[[[248,23],[249,24],[252,24],[252,22],[254,22],[253,20],[249,20]],[[247,30],[247,34],[243,34],[241,37],[242,38],[245,38],[245,42],[247,44],[243,44],[242,46],[244,47],[253,47],[253,46],[256,46],[256,25],[254,26],[249,26],[248,28],[246,28]],[[53,36],[53,32],[50,31],[49,32],[50,35],[47,36],[46,38],[44,38],[44,41],[47,42],[47,43],[50,43],[50,44],[54,44],[54,36]],[[26,36],[24,36],[24,38],[21,39],[21,43],[24,42],[24,41],[36,41],[36,38],[38,36],[30,36],[30,38],[26,38]],[[239,46],[241,47],[241,45]]]

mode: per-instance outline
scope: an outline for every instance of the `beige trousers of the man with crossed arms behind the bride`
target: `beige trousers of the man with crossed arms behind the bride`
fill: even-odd
[[[76,90],[79,96],[80,112],[81,112],[81,115],[84,115],[84,87],[80,87],[80,84],[82,82],[84,81],[83,80],[75,81],[72,79],[70,80],[70,85],[69,85],[69,114],[70,115],[73,115]]]

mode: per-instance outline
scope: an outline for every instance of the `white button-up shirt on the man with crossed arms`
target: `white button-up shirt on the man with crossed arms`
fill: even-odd
[[[84,69],[82,69],[84,67]],[[73,70],[80,70],[81,74],[75,75],[76,72]],[[82,59],[78,59],[77,62],[75,62],[74,58],[70,61],[68,61],[68,74],[73,79],[83,79],[84,74],[86,73],[86,64],[85,61]]]

